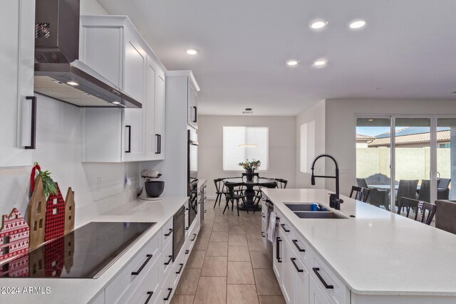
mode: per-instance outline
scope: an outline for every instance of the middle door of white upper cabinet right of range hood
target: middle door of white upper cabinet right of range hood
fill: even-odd
[[[145,127],[145,159],[155,159],[156,148],[156,135],[155,135],[155,79],[156,79],[156,67],[152,62],[152,59],[147,56],[146,66],[146,94],[145,94],[145,105],[146,105],[146,127]],[[144,105],[142,105],[144,107]]]

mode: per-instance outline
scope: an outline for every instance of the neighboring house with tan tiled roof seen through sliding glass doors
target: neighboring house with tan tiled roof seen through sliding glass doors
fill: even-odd
[[[369,142],[367,147],[390,147],[390,133],[383,133],[375,136],[372,142]],[[356,135],[356,142],[358,143],[358,135]],[[406,127],[396,131],[395,135],[396,147],[429,147],[430,146],[430,132],[429,127]],[[358,147],[358,144],[357,144]],[[437,129],[437,147],[449,148],[450,147],[450,128],[439,127]]]

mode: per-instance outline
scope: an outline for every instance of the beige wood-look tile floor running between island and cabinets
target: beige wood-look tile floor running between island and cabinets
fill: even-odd
[[[261,240],[261,212],[215,209],[207,213],[172,304],[285,303]]]

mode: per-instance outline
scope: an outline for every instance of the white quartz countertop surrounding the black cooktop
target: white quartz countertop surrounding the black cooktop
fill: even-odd
[[[163,197],[160,201],[135,199],[102,214],[93,221],[156,222],[100,278],[0,278],[0,303],[88,303],[107,285],[135,253],[159,231],[187,201],[186,196]],[[24,287],[38,288],[36,293],[23,293]],[[19,294],[1,293],[1,288],[19,288]],[[41,288],[42,293],[39,293]],[[50,292],[46,293],[46,288]]]

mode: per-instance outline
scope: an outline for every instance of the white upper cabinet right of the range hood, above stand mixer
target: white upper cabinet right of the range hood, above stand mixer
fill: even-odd
[[[81,16],[81,60],[142,103],[84,110],[84,162],[163,159],[165,68],[127,16]]]

